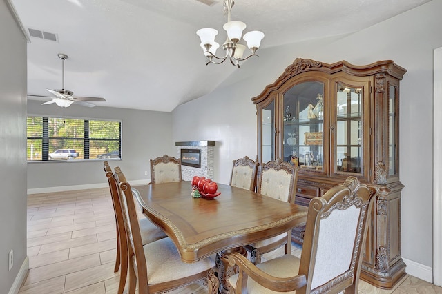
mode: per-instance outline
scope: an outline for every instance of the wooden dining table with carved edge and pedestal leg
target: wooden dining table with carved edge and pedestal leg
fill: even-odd
[[[229,293],[227,255],[242,246],[291,230],[307,219],[307,207],[250,190],[218,184],[213,199],[193,198],[191,182],[132,186],[143,214],[173,240],[183,262],[218,254],[220,292]]]

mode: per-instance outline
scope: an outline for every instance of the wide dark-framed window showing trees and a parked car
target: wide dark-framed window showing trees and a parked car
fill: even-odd
[[[28,161],[121,158],[121,121],[29,116]]]

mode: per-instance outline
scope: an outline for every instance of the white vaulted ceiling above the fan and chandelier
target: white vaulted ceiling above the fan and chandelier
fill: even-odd
[[[196,30],[226,38],[222,0],[10,0],[30,37],[28,97],[51,99],[62,84],[77,96],[104,97],[99,106],[172,111],[213,91],[234,70],[209,64]],[[236,0],[232,20],[265,33],[261,48],[362,30],[430,0]],[[212,5],[206,3],[213,2]],[[53,35],[49,35],[53,36]],[[218,49],[218,53],[221,50]],[[258,50],[258,54],[259,54]],[[56,107],[55,104],[48,107]]]

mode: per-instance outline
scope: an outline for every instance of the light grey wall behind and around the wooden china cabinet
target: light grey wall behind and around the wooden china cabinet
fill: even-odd
[[[260,50],[259,58],[249,59],[217,90],[175,108],[173,141],[216,141],[214,178],[228,183],[233,159],[256,157],[256,107],[250,98],[296,57],[356,65],[392,59],[408,70],[400,102],[402,256],[431,268],[432,56],[442,46],[441,11],[442,0],[433,0],[351,35]]]

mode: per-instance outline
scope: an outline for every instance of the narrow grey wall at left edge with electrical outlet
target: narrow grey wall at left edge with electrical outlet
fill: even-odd
[[[8,293],[27,260],[26,37],[6,1],[0,1],[0,36],[0,293]]]

